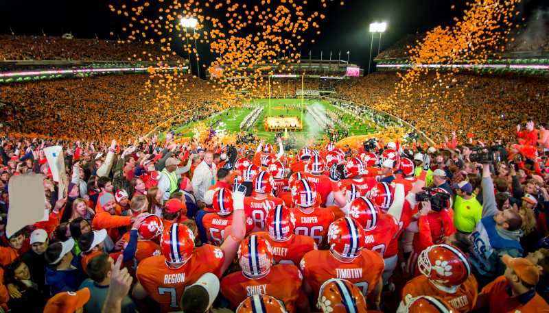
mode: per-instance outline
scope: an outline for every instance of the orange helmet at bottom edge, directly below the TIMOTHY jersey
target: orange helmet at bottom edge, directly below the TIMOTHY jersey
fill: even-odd
[[[316,308],[324,313],[365,313],[366,300],[360,289],[350,281],[332,278],[320,287]]]

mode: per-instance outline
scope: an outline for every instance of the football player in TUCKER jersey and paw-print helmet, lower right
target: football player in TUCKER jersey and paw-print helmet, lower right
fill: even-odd
[[[423,295],[439,297],[459,312],[473,310],[478,284],[464,253],[453,246],[435,245],[419,255],[418,263],[423,275],[411,279],[402,288],[397,312],[404,312],[412,298]]]

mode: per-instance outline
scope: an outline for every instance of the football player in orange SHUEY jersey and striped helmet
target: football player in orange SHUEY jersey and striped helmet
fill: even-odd
[[[260,236],[249,236],[240,244],[238,262],[242,271],[221,280],[221,293],[231,308],[251,295],[270,295],[288,312],[309,312],[309,299],[301,288],[303,277],[292,264],[272,265],[272,249]]]

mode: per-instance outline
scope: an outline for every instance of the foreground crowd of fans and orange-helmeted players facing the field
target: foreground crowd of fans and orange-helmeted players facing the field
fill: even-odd
[[[455,133],[441,148],[380,138],[295,155],[281,138],[4,137],[1,308],[549,312],[549,130],[535,126],[495,155]],[[31,173],[43,194],[12,189]],[[30,196],[49,217],[7,236]]]

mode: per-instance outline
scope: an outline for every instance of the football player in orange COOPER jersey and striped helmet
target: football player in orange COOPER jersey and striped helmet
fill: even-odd
[[[295,234],[309,236],[318,247],[323,247],[329,225],[334,221],[334,213],[327,208],[315,207],[316,187],[306,179],[296,181],[292,186],[292,209],[296,217]]]

